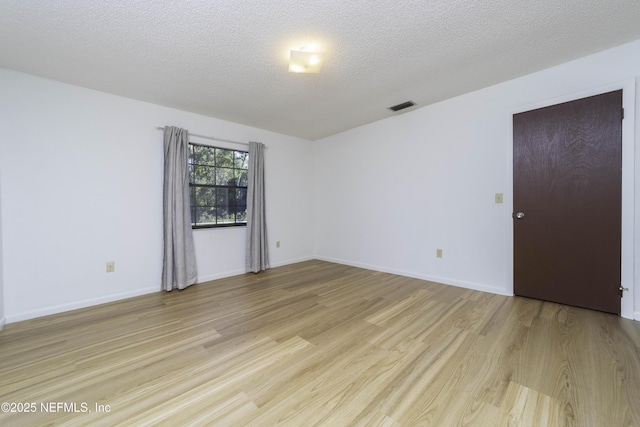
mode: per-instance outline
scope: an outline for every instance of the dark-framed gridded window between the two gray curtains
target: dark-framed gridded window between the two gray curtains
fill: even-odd
[[[247,224],[249,153],[189,144],[191,227]]]

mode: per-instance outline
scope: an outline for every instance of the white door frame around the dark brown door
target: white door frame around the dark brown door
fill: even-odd
[[[622,121],[622,286],[628,288],[620,302],[620,315],[627,319],[634,318],[633,302],[634,286],[634,236],[635,236],[635,79],[601,86],[561,97],[546,99],[534,104],[514,108],[507,114],[507,182],[505,193],[506,223],[506,278],[507,289],[513,293],[513,115],[563,102],[575,101],[601,93],[622,89],[622,108],[625,119]],[[636,319],[640,320],[640,319]]]

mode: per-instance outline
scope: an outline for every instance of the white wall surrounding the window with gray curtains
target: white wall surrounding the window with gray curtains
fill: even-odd
[[[309,141],[0,69],[8,322],[160,290],[157,125],[264,142],[272,265],[312,257]],[[199,281],[244,272],[244,228],[194,237]]]

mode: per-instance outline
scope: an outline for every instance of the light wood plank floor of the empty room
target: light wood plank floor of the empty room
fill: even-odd
[[[640,426],[639,346],[610,314],[309,261],[7,325],[0,402],[36,412],[0,425]]]

